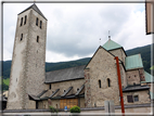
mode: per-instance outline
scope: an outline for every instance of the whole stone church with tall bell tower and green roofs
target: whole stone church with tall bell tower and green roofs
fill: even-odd
[[[87,65],[46,73],[47,23],[35,3],[17,16],[7,109],[100,107],[111,100],[120,105],[115,56],[124,104],[151,103],[153,76],[141,55],[128,56],[112,39],[98,47]]]

